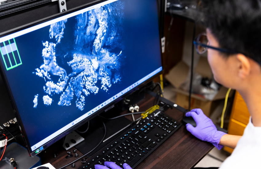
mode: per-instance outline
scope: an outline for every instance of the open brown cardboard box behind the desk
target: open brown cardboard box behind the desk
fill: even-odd
[[[176,104],[188,109],[189,107],[189,92],[180,89],[181,84],[189,76],[189,66],[181,61],[173,69],[169,71],[169,74],[165,78],[174,86],[173,91],[176,92]],[[195,72],[200,74],[202,77],[212,78],[211,68],[208,64],[206,57],[200,57]],[[225,99],[228,88],[222,86],[217,92],[216,96],[212,100],[205,99],[204,96],[192,93],[190,108],[201,108],[206,116],[210,116],[211,112],[217,105],[217,100]],[[229,97],[233,96],[234,91],[229,93]]]

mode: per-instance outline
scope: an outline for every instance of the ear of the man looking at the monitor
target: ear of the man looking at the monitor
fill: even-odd
[[[245,79],[249,74],[250,74],[250,62],[249,62],[249,59],[239,53],[239,54],[236,54],[236,58],[238,60],[238,75],[240,78],[242,79]]]

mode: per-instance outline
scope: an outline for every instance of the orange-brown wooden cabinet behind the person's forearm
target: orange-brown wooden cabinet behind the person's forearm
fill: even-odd
[[[242,96],[236,91],[232,112],[228,124],[228,134],[242,136],[249,122],[250,114]],[[232,153],[233,149],[224,147],[225,151]]]

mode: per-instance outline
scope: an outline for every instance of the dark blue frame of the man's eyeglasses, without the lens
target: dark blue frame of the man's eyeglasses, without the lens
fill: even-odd
[[[199,35],[195,38],[195,40],[193,41],[193,44],[195,45],[196,51],[197,51],[197,53],[198,53],[199,55],[204,54],[207,50],[205,50],[203,53],[200,53],[200,52],[198,51],[198,49],[197,49],[197,46],[203,46],[203,47],[205,47],[206,49],[210,48],[210,49],[214,49],[214,50],[217,50],[217,51],[220,51],[220,52],[224,52],[224,53],[231,53],[231,54],[240,53],[240,52],[237,52],[237,51],[234,51],[234,50],[229,50],[229,49],[224,49],[224,48],[217,48],[217,47],[213,47],[213,46],[210,46],[210,45],[205,45],[205,44],[203,44],[203,43],[200,43],[198,39],[199,39],[199,37],[202,36],[202,35],[207,36],[206,33],[201,33],[201,34],[199,34]]]

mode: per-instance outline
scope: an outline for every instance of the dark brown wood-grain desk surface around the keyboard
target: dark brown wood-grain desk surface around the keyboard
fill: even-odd
[[[145,111],[150,108],[153,105],[153,100],[154,97],[146,94],[146,98],[138,103],[140,111]],[[122,112],[122,114],[124,113],[128,112]],[[175,108],[169,109],[165,113],[181,122],[183,113]],[[135,115],[134,117],[137,119],[139,116],[140,115]],[[126,118],[131,120],[131,116],[127,116]],[[213,147],[211,143],[198,140],[186,130],[185,125],[182,125],[177,132],[135,169],[158,169],[162,167],[164,167],[164,169],[193,168]],[[73,149],[75,148],[71,148],[68,151],[72,151]],[[58,153],[57,158],[53,158],[54,152]],[[83,155],[80,151],[77,151],[77,154],[79,154],[79,157]],[[55,168],[60,168],[76,159],[75,157],[65,159],[66,155],[67,151],[65,151],[63,147],[53,144],[47,148],[45,152],[42,152],[40,157],[43,164],[51,163]],[[75,164],[76,168],[82,165],[80,160]],[[72,169],[71,165],[66,167],[66,169]]]

